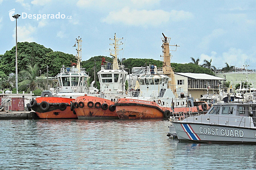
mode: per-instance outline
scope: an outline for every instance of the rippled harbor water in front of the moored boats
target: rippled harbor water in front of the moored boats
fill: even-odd
[[[169,139],[164,120],[1,120],[0,170],[255,169],[256,145]]]

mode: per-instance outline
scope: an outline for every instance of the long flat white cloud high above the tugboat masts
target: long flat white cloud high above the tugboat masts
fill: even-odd
[[[102,22],[124,23],[134,26],[158,26],[166,23],[169,20],[178,22],[182,20],[189,20],[193,18],[193,14],[186,11],[172,10],[170,12],[163,10],[130,10],[129,7],[122,8],[121,11],[111,11],[107,17],[102,19]]]

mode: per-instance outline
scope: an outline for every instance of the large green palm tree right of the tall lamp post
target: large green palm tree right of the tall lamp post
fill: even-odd
[[[27,69],[20,71],[20,74],[25,75],[26,78],[22,82],[19,82],[20,90],[34,91],[38,89],[36,86],[39,84],[44,86],[43,78],[44,76],[37,77],[39,74],[39,67],[37,64],[32,67],[31,64],[26,65]]]

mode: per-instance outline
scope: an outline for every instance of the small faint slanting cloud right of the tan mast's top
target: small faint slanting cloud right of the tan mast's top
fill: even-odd
[[[221,35],[223,35],[224,32],[225,31],[223,29],[221,29],[221,28],[213,30],[211,34],[209,34],[207,36],[204,36],[202,38],[202,41],[199,44],[199,47],[202,48],[202,49],[208,49],[210,42],[212,42],[212,40],[215,40],[216,38],[218,38]]]

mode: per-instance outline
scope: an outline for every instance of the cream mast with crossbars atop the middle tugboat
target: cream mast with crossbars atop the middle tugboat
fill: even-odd
[[[109,45],[112,45],[114,47],[113,50],[111,50],[109,48],[110,51],[110,55],[113,57],[113,70],[119,70],[119,66],[118,66],[118,61],[117,61],[117,55],[119,54],[119,51],[122,49],[118,49],[119,45],[122,45],[122,41],[119,43],[120,40],[122,40],[123,38],[116,38],[116,33],[114,35],[114,39],[109,39],[112,40],[113,43],[110,43]],[[112,51],[115,52],[115,54],[112,54]]]

